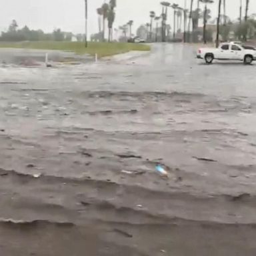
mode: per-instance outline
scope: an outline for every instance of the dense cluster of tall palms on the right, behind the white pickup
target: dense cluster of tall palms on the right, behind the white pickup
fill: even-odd
[[[181,31],[183,31],[182,40],[184,42],[197,42],[201,34],[199,28],[200,20],[203,21],[202,41],[204,43],[213,40],[217,42],[219,41],[219,36],[221,36],[222,40],[227,40],[231,31],[235,38],[243,39],[244,41],[256,37],[255,15],[248,15],[249,0],[240,0],[240,6],[237,9],[239,18],[235,21],[231,21],[226,15],[226,1],[216,1],[218,3],[218,17],[213,20],[211,20],[211,10],[208,7],[214,3],[214,0],[190,0],[189,9],[187,7],[181,7],[176,3],[171,4],[168,1],[162,1],[160,3],[162,7],[161,13],[157,14],[155,11],[149,11],[149,23],[144,25],[147,29],[147,40],[163,42],[169,41],[170,39],[175,40],[177,33],[181,35]],[[243,3],[245,3],[244,16]],[[171,15],[173,17],[172,35],[170,33],[170,25],[167,24]],[[161,24],[160,29],[159,22]],[[214,24],[217,30],[215,39],[212,38]],[[153,27],[154,25],[155,27]]]

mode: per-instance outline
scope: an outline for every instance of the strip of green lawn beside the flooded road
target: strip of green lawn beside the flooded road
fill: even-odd
[[[51,49],[61,51],[73,51],[78,54],[98,54],[99,57],[111,56],[128,51],[150,51],[149,45],[139,43],[94,43],[89,42],[85,48],[83,42],[59,42],[59,41],[26,41],[17,43],[0,43],[0,47],[25,48],[25,49]]]

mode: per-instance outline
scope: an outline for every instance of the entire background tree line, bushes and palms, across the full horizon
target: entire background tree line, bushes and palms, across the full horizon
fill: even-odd
[[[218,2],[219,10],[217,18],[212,19],[209,5],[214,1]],[[187,0],[188,2],[189,9],[187,6],[179,6],[177,3],[171,4],[168,1],[161,1],[160,13],[149,11],[149,22],[141,25],[138,31],[145,31],[147,34],[145,39],[149,42],[175,41],[177,35],[179,35],[179,40],[184,42],[202,40],[204,43],[216,41],[217,44],[220,40],[227,41],[231,33],[235,39],[243,41],[256,38],[256,15],[248,15],[249,0],[240,0],[239,9],[237,8],[239,17],[234,21],[231,21],[226,15],[225,0]],[[118,28],[113,28],[116,7],[117,1],[109,0],[108,3],[104,1],[96,9],[99,29],[98,33],[91,35],[92,41],[113,41],[113,31],[121,32],[119,38],[121,41],[127,41],[129,37],[133,37],[134,22],[132,19]],[[172,27],[168,23],[171,19]],[[199,21],[203,21],[203,29],[199,27]],[[216,38],[213,38],[213,27],[215,27],[214,32],[217,30]],[[11,22],[6,32],[1,33],[0,37],[0,41],[72,41],[73,39],[83,41],[84,35],[73,35],[73,33],[61,31],[61,29],[55,29],[52,33],[45,33],[41,29],[31,30],[27,26],[19,28],[15,20]]]

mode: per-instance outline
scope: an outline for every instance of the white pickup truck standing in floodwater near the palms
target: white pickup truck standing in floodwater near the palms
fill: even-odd
[[[256,50],[239,43],[222,43],[219,48],[200,48],[197,51],[198,59],[205,59],[206,63],[212,63],[213,59],[237,60],[245,64],[251,64],[256,60]]]

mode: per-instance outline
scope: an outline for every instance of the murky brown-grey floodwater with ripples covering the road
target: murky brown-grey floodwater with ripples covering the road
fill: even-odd
[[[255,71],[179,44],[1,67],[1,255],[254,256]]]

